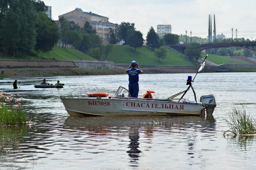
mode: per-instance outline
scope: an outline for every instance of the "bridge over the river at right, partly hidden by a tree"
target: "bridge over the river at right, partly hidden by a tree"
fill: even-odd
[[[256,41],[245,41],[245,42],[210,42],[210,43],[201,43],[201,50],[210,49],[210,48],[224,48],[224,47],[240,47],[244,49],[249,49],[256,53]],[[179,45],[168,45],[168,47],[177,50],[178,52],[184,53],[186,49],[186,44]]]

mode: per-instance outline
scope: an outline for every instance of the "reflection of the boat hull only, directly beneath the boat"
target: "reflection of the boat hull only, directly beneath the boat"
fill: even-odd
[[[94,133],[110,132],[112,128],[128,127],[129,131],[138,131],[143,127],[145,134],[151,136],[154,130],[164,128],[195,128],[203,133],[216,130],[216,121],[211,115],[203,116],[138,116],[138,117],[72,117],[68,116],[65,120],[65,128],[88,129]],[[132,134],[132,133],[131,133]]]

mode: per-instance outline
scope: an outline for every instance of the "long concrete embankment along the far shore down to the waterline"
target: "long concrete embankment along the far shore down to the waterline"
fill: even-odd
[[[125,74],[127,64],[112,61],[69,61],[69,60],[18,60],[0,59],[2,76],[54,76],[54,75],[102,75]],[[152,66],[140,65],[144,73],[196,73],[198,66]],[[256,65],[206,65],[203,72],[224,72],[233,70],[254,71]],[[1,71],[0,70],[0,71]]]

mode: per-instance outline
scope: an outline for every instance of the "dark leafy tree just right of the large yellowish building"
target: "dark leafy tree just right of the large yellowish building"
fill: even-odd
[[[134,23],[129,23],[129,22],[122,22],[121,24],[119,24],[118,27],[118,37],[120,40],[125,41],[125,44],[127,43],[127,39],[129,37],[129,31],[135,31],[134,28]]]

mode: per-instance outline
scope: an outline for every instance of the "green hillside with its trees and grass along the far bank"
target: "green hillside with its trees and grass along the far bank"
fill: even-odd
[[[148,29],[146,40],[134,23],[121,22],[116,29],[108,29],[103,44],[89,22],[80,28],[65,18],[53,21],[46,15],[46,6],[38,0],[13,0],[0,2],[0,57],[10,59],[85,59],[109,60],[129,63],[131,60],[146,65],[195,65],[201,56],[199,43],[208,42],[200,37],[166,33],[158,35],[153,27]],[[59,27],[56,23],[59,23]],[[229,39],[217,39],[231,41]],[[236,41],[247,41],[236,39]],[[117,42],[125,42],[117,46]],[[183,58],[165,45],[186,43]],[[237,48],[207,49],[205,53],[218,56],[245,56],[255,58],[249,50]],[[210,57],[209,57],[210,58]],[[218,59],[216,59],[218,58]],[[226,58],[229,58],[228,60]],[[214,57],[216,63],[233,63],[231,57]],[[216,61],[217,60],[217,61]],[[228,61],[228,62],[227,62]],[[238,63],[238,62],[235,62]]]

